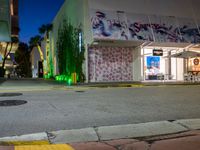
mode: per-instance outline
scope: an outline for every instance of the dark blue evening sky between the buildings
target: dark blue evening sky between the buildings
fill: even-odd
[[[19,0],[20,41],[39,34],[42,24],[51,23],[64,0]]]

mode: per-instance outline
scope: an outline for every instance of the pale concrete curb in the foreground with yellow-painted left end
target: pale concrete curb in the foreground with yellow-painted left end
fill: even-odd
[[[0,138],[0,145],[47,145],[146,138],[200,129],[200,119],[182,119],[85,129],[60,130]]]

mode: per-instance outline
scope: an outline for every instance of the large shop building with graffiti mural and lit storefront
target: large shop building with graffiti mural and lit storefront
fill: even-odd
[[[199,57],[171,57],[200,50],[198,0],[66,0],[53,21],[50,49],[54,74],[63,20],[83,31],[86,82],[183,81],[200,72]]]

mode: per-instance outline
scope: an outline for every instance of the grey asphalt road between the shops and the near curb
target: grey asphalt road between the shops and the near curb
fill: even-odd
[[[200,86],[68,88],[54,82],[6,81],[1,100],[26,100],[0,107],[0,137],[93,126],[200,118]],[[77,92],[78,91],[78,92]]]

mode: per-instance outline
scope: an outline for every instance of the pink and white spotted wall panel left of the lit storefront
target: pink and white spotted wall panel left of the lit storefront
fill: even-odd
[[[133,50],[121,47],[89,48],[89,81],[133,81]]]

